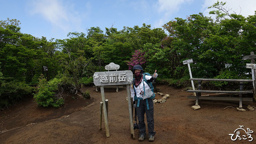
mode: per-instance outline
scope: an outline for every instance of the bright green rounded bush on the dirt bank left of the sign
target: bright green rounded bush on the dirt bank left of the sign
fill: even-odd
[[[38,106],[43,107],[60,107],[64,104],[64,99],[58,97],[58,85],[61,83],[61,79],[54,78],[47,82],[46,78],[41,76],[38,84],[38,92],[34,94],[34,98]]]

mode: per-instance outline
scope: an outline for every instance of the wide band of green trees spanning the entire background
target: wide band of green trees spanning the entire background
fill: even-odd
[[[202,13],[191,14],[186,19],[175,18],[163,29],[143,23],[141,27],[124,27],[120,31],[106,28],[103,33],[99,27],[91,27],[87,33],[69,33],[69,38],[56,41],[20,33],[18,20],[1,20],[0,83],[40,85],[43,82],[38,78],[44,74],[48,87],[42,88],[45,89],[42,92],[54,95],[55,84],[50,86],[47,81],[61,71],[61,83],[76,93],[82,84],[92,83],[90,77],[95,71],[105,71],[104,67],[110,62],[126,70],[129,69],[127,62],[133,60],[143,61],[143,68],[149,73],[157,69],[162,78],[189,78],[188,67],[182,63],[187,59],[194,61],[190,64],[193,77],[249,77],[251,71],[245,68],[245,63],[250,60],[242,61],[242,58],[256,52],[256,14],[245,18],[230,13],[231,9],[225,6],[226,3],[217,2],[209,7],[214,18]],[[133,59],[136,51],[143,53],[145,59],[142,60],[141,55]],[[225,68],[227,63],[232,65],[230,71]],[[48,71],[43,71],[43,66],[47,66]],[[57,100],[49,103],[52,101]]]

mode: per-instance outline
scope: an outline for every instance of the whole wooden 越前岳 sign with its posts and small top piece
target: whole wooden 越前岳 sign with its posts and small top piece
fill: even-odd
[[[107,65],[107,69],[116,69],[115,63],[111,62],[111,65]],[[105,67],[105,68],[106,68]],[[118,67],[119,69],[119,67]],[[101,91],[101,100],[102,100],[102,107],[103,107],[103,116],[105,121],[105,129],[106,129],[106,136],[110,137],[109,134],[109,125],[108,125],[108,113],[107,113],[107,106],[106,106],[106,99],[105,99],[105,92],[104,86],[106,85],[126,85],[127,89],[127,98],[128,98],[128,106],[129,106],[129,118],[130,118],[130,129],[131,135],[134,138],[134,130],[133,130],[133,116],[132,116],[132,103],[131,103],[131,92],[130,92],[130,85],[133,81],[133,73],[131,70],[124,70],[124,71],[103,71],[103,72],[95,72],[93,74],[93,83],[95,86],[100,86]],[[101,114],[100,114],[101,115]],[[101,117],[101,116],[100,116]],[[101,122],[101,119],[100,119]],[[101,124],[100,124],[101,129]]]

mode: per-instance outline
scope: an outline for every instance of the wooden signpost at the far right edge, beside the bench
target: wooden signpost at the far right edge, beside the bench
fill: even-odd
[[[253,101],[256,100],[256,90],[255,90],[255,69],[256,69],[256,65],[254,64],[255,61],[254,59],[256,58],[256,55],[254,54],[254,52],[251,52],[250,55],[245,55],[244,58],[242,60],[251,60],[251,63],[246,63],[246,68],[251,68],[252,69],[252,80],[253,80]]]

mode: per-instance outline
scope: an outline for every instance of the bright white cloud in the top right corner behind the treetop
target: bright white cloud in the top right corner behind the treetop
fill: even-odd
[[[213,9],[207,9],[207,7],[213,5],[217,1],[218,0],[204,0],[204,4],[202,6],[204,15],[209,16],[209,11],[212,11]],[[226,2],[225,6],[228,10],[230,10],[230,13],[241,14],[244,17],[248,17],[248,15],[254,15],[254,11],[256,10],[255,0],[225,0],[223,2]]]

